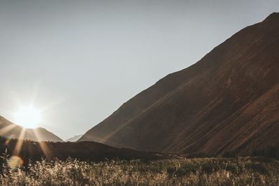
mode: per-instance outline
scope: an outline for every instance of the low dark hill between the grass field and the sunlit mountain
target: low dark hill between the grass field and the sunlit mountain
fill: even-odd
[[[17,140],[0,137],[0,155],[5,152],[9,155],[18,155],[22,158],[24,166],[29,160],[33,162],[46,160],[66,160],[68,157],[86,162],[97,162],[103,160],[158,160],[167,158],[168,155],[160,153],[140,152],[128,148],[115,148],[93,141],[81,142],[52,142],[52,141],[30,141]],[[0,164],[2,160],[0,159]]]

